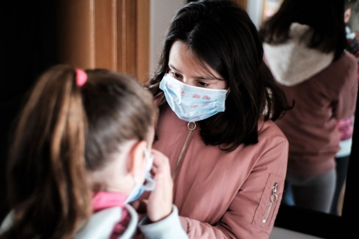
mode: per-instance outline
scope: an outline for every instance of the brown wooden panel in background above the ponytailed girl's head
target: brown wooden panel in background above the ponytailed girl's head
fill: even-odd
[[[80,68],[149,78],[149,0],[59,0],[58,57]]]

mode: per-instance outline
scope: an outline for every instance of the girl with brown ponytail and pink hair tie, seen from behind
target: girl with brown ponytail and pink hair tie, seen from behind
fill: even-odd
[[[146,237],[187,238],[168,158],[151,150],[157,115],[152,95],[129,76],[66,65],[46,71],[10,148],[12,210],[0,238],[131,238],[138,215],[128,203],[145,190]]]

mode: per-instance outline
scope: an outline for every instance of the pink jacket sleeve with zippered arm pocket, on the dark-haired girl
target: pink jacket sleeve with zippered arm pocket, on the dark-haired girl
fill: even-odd
[[[268,239],[282,200],[288,147],[282,140],[261,155],[216,225],[179,217],[188,237]]]

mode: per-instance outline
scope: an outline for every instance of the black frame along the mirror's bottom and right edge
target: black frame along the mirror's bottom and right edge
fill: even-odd
[[[354,122],[354,133],[352,151],[349,159],[347,172],[342,216],[322,213],[319,211],[303,209],[295,206],[281,204],[274,223],[280,227],[308,235],[326,239],[351,238],[358,232],[353,219],[356,219],[359,212],[359,203],[354,200],[356,191],[356,171],[359,158],[359,98],[357,98],[356,113]]]

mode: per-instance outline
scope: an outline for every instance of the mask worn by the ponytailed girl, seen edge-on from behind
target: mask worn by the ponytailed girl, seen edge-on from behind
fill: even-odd
[[[155,180],[153,180],[153,178],[151,178],[151,173],[150,173],[153,164],[153,156],[148,152],[146,148],[144,149],[144,153],[147,157],[145,182],[144,183],[136,182],[135,187],[132,189],[125,203],[136,201],[137,199],[140,198],[143,192],[152,191],[155,189],[156,182]],[[135,180],[137,179],[135,178]]]

